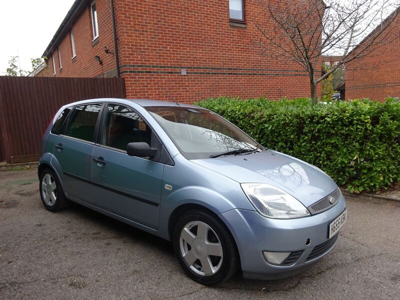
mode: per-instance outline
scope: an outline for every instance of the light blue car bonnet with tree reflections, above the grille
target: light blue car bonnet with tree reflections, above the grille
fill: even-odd
[[[240,183],[274,185],[294,196],[304,206],[311,205],[337,188],[336,183],[317,167],[273,150],[191,161]]]

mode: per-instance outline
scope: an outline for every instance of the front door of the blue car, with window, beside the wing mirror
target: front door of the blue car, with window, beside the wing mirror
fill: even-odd
[[[105,107],[101,127],[91,160],[96,205],[156,229],[164,167],[157,158],[159,140],[136,111],[121,104]],[[147,142],[158,149],[157,155],[129,156],[129,142]]]

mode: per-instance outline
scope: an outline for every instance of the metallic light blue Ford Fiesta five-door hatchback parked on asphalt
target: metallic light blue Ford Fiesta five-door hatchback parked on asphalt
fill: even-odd
[[[171,240],[203,284],[239,269],[246,278],[292,275],[334,247],[346,220],[328,175],[194,105],[65,105],[44,133],[38,175],[46,209],[71,200]]]

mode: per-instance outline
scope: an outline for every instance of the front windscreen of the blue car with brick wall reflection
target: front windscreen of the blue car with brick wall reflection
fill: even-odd
[[[187,159],[264,149],[239,128],[209,110],[183,106],[149,106],[146,109]]]

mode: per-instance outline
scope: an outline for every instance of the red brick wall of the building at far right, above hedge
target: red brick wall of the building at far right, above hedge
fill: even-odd
[[[396,39],[370,55],[354,60],[346,69],[346,98],[370,98],[383,101],[387,96],[400,96],[400,15],[390,25],[386,40]]]

